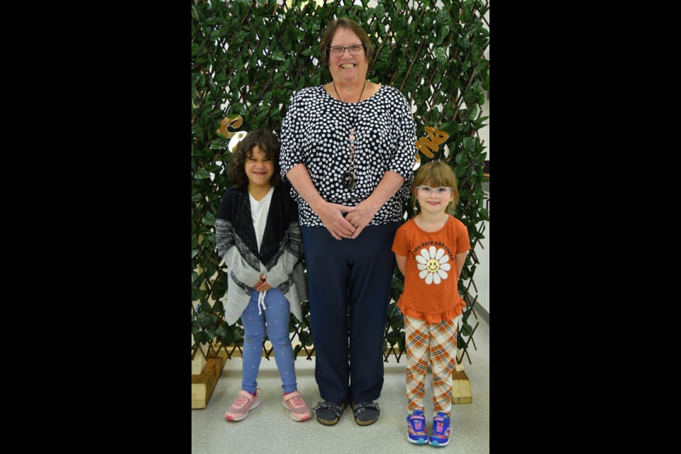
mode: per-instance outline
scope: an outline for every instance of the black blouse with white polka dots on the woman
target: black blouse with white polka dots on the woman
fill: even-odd
[[[343,184],[350,170],[350,128],[355,127],[354,190]],[[282,122],[282,177],[302,163],[317,192],[334,204],[355,206],[367,199],[388,170],[404,177],[404,184],[374,216],[369,225],[402,221],[404,204],[414,179],[416,125],[409,103],[394,87],[382,85],[360,103],[345,103],[324,88],[301,89]],[[323,226],[321,219],[292,188],[298,202],[300,225]]]

